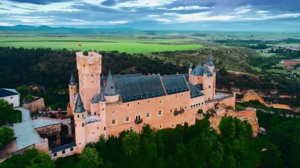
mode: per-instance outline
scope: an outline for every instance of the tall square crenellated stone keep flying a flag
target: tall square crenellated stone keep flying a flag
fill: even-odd
[[[95,52],[88,52],[88,56],[84,56],[83,52],[76,53],[79,94],[88,113],[91,112],[90,100],[100,93],[101,58]]]

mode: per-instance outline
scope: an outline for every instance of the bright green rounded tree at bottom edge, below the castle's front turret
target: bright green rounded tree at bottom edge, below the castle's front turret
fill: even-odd
[[[103,159],[100,158],[97,150],[91,147],[86,147],[85,149],[83,149],[81,155],[79,156],[79,159],[79,165],[82,168],[98,168],[103,164]]]

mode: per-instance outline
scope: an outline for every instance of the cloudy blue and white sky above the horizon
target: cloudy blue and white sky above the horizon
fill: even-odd
[[[300,31],[300,0],[0,0],[0,26]]]

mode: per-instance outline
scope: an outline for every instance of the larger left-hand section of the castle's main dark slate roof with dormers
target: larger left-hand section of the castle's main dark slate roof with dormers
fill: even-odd
[[[130,102],[164,96],[158,75],[116,79],[122,102]]]

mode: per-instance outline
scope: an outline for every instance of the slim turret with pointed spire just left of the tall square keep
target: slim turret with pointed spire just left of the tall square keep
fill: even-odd
[[[75,82],[73,73],[71,73],[70,83],[69,83],[69,96],[70,96],[70,103],[68,106],[67,114],[73,115],[73,111],[75,109],[75,94],[77,91],[77,84]]]

